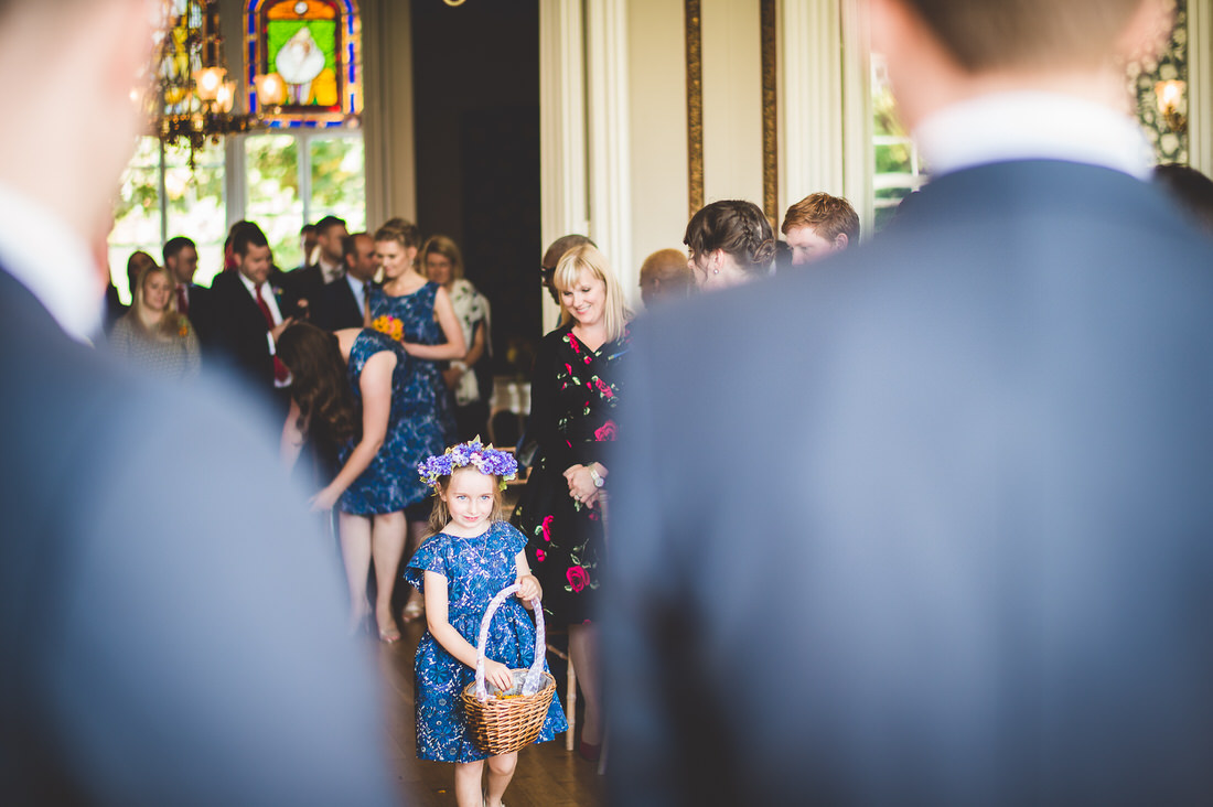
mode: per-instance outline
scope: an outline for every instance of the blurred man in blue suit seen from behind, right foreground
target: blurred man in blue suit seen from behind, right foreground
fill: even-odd
[[[936,172],[637,328],[610,801],[1213,802],[1213,245],[1144,180],[1155,0],[872,0]]]

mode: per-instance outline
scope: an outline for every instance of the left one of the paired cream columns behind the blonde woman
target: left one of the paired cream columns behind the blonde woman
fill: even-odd
[[[539,2],[540,250],[560,235],[590,234],[586,172],[585,49],[580,2]],[[539,269],[542,252],[535,256]],[[556,322],[543,292],[540,328]]]

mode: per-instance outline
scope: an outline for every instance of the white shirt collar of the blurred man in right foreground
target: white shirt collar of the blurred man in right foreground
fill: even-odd
[[[1001,92],[946,107],[913,131],[927,170],[1055,159],[1149,180],[1154,153],[1141,127],[1110,107],[1050,92]]]

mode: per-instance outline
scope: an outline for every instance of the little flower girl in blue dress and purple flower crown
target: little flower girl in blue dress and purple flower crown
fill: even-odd
[[[501,490],[518,464],[511,454],[475,439],[429,458],[417,470],[437,496],[432,535],[405,569],[405,579],[425,595],[428,627],[415,659],[417,758],[455,763],[459,807],[501,807],[518,752],[488,756],[475,746],[461,694],[475,680],[473,643],[489,601],[514,582],[522,586],[517,598],[497,609],[489,629],[485,681],[508,689],[511,670],[529,667],[535,658],[535,625],[526,608],[542,598],[542,590],[526,563],[526,539],[506,523],[501,507]],[[560,703],[553,698],[536,743],[566,729]]]

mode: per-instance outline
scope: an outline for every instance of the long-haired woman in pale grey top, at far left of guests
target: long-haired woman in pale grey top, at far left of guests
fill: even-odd
[[[167,269],[154,263],[143,269],[131,308],[114,323],[109,345],[155,375],[173,380],[198,375],[198,335],[189,318],[177,312]]]

